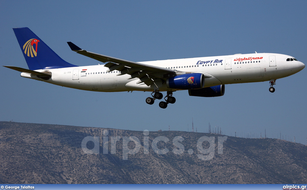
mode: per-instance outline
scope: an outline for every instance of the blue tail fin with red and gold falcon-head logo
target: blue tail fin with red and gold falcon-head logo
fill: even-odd
[[[29,28],[13,28],[30,70],[77,67],[64,61]]]

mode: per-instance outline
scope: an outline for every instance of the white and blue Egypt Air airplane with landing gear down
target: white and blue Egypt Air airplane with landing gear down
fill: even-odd
[[[89,52],[67,42],[72,51],[105,64],[77,66],[64,61],[29,28],[13,28],[29,69],[4,66],[21,76],[47,83],[98,92],[149,91],[147,104],[163,98],[159,106],[176,102],[173,92],[188,90],[190,96],[223,96],[225,84],[270,81],[293,75],[305,64],[292,56],[251,53],[227,56],[133,62]]]

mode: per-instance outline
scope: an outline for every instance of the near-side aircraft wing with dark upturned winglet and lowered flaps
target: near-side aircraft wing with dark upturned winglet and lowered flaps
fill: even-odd
[[[105,56],[93,52],[88,52],[79,48],[72,42],[67,43],[72,49],[72,51],[101,61],[103,63],[108,62],[104,65],[105,67],[109,68],[107,72],[116,70],[120,72],[119,74],[117,74],[117,76],[128,74],[130,75],[128,79],[139,78],[140,80],[137,82],[137,84],[145,83],[146,85],[150,86],[154,83],[158,87],[158,82],[161,81],[161,79],[176,76],[176,72],[169,68],[157,67],[153,65],[147,65],[133,61],[118,59],[115,57]]]

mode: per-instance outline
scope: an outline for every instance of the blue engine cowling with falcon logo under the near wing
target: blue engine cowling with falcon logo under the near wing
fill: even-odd
[[[166,80],[166,86],[168,88],[190,90],[203,88],[205,85],[204,74],[191,73],[174,76]]]

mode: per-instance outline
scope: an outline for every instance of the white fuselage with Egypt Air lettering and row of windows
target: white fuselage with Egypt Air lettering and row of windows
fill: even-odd
[[[275,53],[236,54],[229,56],[198,57],[188,59],[157,60],[139,62],[147,65],[170,68],[178,72],[203,73],[205,87],[220,84],[262,82],[279,79],[301,71],[305,65],[300,61],[287,61],[292,56]],[[293,58],[294,59],[294,58]],[[153,91],[153,85],[137,84],[138,78],[128,79],[130,75],[120,75],[119,71],[106,72],[103,65],[68,67],[58,69],[41,69],[38,72],[51,72],[49,80],[21,73],[21,76],[41,80],[59,86],[87,91],[119,92],[119,91]],[[166,84],[159,91],[176,91]]]

